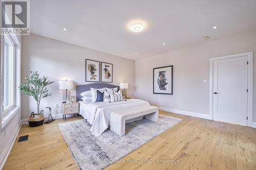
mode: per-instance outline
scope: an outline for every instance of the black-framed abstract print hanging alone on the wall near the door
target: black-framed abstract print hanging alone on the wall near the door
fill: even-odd
[[[153,68],[153,93],[173,94],[173,65]]]

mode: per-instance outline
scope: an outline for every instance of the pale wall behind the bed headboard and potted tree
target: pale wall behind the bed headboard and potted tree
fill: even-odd
[[[41,76],[55,81],[49,86],[52,96],[42,99],[40,109],[50,106],[53,114],[61,113],[62,91],[58,90],[58,80],[73,80],[76,84],[89,84],[85,81],[85,60],[93,59],[113,63],[113,83],[128,82],[127,96],[135,96],[135,61],[98,52],[89,48],[31,34],[22,39],[22,83],[29,71],[36,70]],[[72,91],[75,95],[75,90]],[[58,108],[54,108],[58,104]],[[28,118],[36,111],[32,96],[22,95],[22,118]]]

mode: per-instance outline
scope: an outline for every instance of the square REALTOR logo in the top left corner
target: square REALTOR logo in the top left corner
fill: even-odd
[[[29,0],[2,1],[1,35],[29,35]]]

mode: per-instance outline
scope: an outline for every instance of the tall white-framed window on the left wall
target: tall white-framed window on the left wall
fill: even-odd
[[[14,107],[14,43],[4,37],[4,112]]]

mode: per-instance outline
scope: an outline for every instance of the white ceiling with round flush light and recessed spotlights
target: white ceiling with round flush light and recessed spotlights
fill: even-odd
[[[31,33],[133,60],[256,29],[255,0],[32,0],[30,9]],[[146,28],[131,32],[131,21]]]

